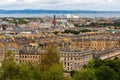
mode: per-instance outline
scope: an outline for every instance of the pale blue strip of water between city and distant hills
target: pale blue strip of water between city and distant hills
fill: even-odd
[[[54,14],[0,14],[0,17],[43,17],[43,16],[53,16]],[[56,15],[66,15],[66,14],[56,14]],[[120,13],[79,13],[75,14],[80,17],[118,17],[120,18]]]

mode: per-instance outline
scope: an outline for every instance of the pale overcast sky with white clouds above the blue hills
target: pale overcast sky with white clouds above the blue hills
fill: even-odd
[[[0,0],[0,9],[120,11],[120,0]]]

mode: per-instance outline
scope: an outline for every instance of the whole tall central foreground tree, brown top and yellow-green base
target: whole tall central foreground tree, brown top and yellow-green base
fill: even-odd
[[[59,58],[59,54],[53,46],[49,46],[46,53],[43,53],[40,64],[43,80],[64,80],[64,69]]]

